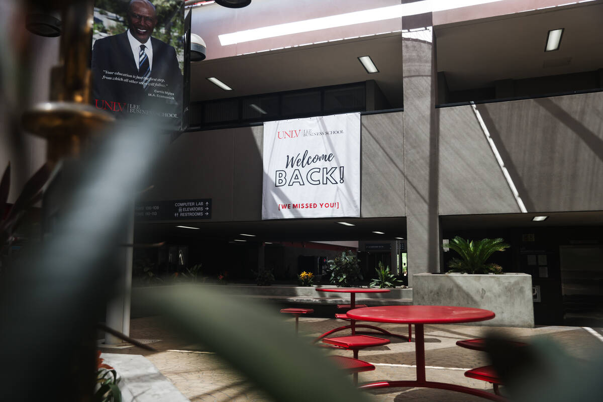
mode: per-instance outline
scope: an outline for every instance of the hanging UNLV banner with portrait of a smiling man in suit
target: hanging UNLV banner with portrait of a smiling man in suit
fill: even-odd
[[[184,2],[95,0],[92,31],[92,105],[116,118],[148,116],[160,128],[182,130]]]

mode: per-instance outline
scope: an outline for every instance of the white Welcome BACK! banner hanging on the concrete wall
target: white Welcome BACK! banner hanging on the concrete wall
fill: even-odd
[[[262,219],[360,216],[360,113],[264,123]]]

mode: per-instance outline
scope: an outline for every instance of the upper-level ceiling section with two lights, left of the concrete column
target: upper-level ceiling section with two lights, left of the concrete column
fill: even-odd
[[[368,74],[358,57],[370,55],[378,73]],[[206,80],[216,77],[225,91]],[[375,80],[391,104],[402,105],[402,37],[385,34],[297,46],[271,52],[192,63],[191,100],[233,98]]]

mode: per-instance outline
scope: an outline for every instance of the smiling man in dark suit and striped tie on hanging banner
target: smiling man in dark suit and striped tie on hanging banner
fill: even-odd
[[[131,0],[127,22],[124,33],[94,43],[92,104],[118,113],[153,110],[160,116],[182,116],[183,77],[176,51],[151,36],[157,25],[155,6]]]

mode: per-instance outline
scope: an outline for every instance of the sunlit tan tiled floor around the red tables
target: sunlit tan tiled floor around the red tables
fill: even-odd
[[[282,316],[283,325],[294,325],[294,319]],[[308,339],[342,325],[342,321],[327,318],[301,317],[300,335]],[[385,324],[383,327],[407,333],[405,325]],[[595,328],[600,332],[600,328]],[[469,368],[487,365],[485,353],[457,347],[460,339],[479,338],[487,333],[506,334],[519,341],[531,342],[546,338],[555,342],[570,356],[589,360],[593,351],[603,349],[603,342],[593,333],[580,327],[500,328],[477,325],[426,325],[425,349],[427,379],[454,383],[491,391],[488,383],[464,377]],[[143,354],[159,371],[191,401],[268,401],[262,391],[255,389],[245,378],[224,363],[218,355],[201,345],[180,341],[160,325],[156,317],[133,319],[130,335],[133,338],[162,339],[151,344],[157,353],[139,348],[106,350],[110,353]],[[329,350],[328,353],[351,356],[350,351]],[[392,338],[389,345],[362,350],[360,358],[374,363],[374,371],[359,374],[359,382],[384,379],[414,379],[414,342]],[[458,392],[424,388],[381,389],[367,392],[371,401],[478,401],[482,398]]]

